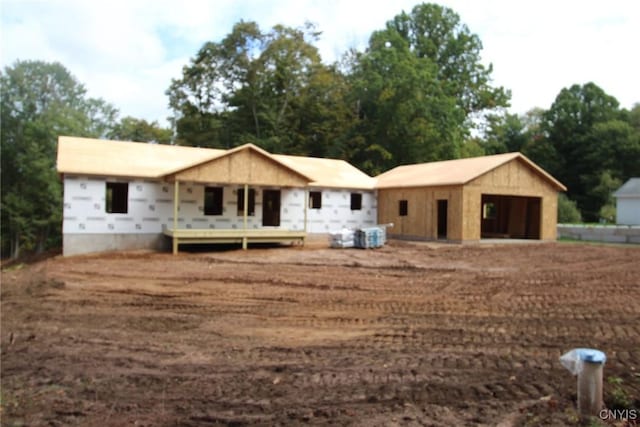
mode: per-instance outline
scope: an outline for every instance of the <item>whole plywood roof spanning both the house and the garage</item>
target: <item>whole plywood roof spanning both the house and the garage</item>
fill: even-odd
[[[521,153],[398,166],[372,178],[344,160],[271,154],[253,144],[219,150],[61,136],[57,167],[78,175],[373,190],[464,185],[511,161],[566,191]]]

